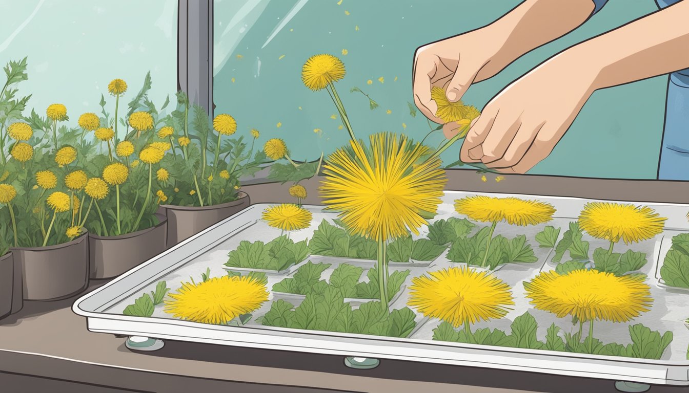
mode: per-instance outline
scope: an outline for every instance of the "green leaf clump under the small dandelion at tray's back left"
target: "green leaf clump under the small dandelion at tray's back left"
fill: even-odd
[[[286,235],[276,237],[268,243],[243,240],[230,251],[225,266],[262,270],[284,270],[309,255],[307,241],[293,242]]]

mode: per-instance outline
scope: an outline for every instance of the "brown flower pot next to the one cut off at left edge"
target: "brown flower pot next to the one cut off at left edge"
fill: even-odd
[[[14,266],[21,266],[24,300],[64,299],[88,286],[88,233],[54,246],[10,250]]]

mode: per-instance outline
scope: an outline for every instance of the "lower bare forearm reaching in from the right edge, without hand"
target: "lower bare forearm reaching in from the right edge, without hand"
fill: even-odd
[[[592,88],[639,81],[689,67],[689,1],[621,26],[562,53],[595,67]]]

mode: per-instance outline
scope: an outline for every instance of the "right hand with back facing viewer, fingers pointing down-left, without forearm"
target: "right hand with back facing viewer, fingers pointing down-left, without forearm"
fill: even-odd
[[[525,173],[548,157],[595,90],[599,70],[584,64],[563,52],[508,85],[469,129],[460,159]]]

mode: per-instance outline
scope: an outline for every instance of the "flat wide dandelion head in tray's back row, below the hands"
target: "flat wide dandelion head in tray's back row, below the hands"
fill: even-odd
[[[484,195],[455,200],[457,213],[480,222],[506,221],[513,225],[536,225],[553,220],[553,205],[537,200],[523,200],[508,197],[497,198]]]

